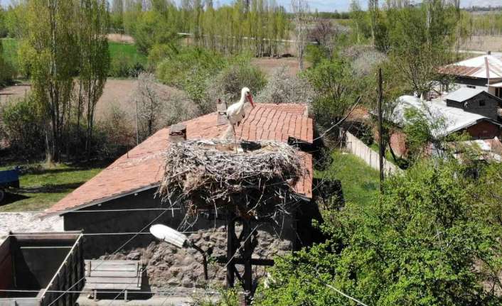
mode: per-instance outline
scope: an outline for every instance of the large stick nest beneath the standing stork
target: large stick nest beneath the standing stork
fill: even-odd
[[[227,209],[240,217],[274,217],[299,201],[293,186],[301,177],[301,160],[286,143],[183,141],[166,153],[159,194],[181,202],[188,215]]]

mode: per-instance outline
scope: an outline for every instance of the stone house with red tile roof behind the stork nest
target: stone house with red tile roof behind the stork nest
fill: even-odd
[[[183,223],[186,213],[176,207],[166,209],[157,191],[164,175],[164,154],[171,143],[185,139],[220,139],[228,129],[224,111],[161,129],[50,207],[48,212],[63,217],[65,230],[96,234],[85,236],[85,259],[140,260],[145,267],[142,285],[145,290],[199,287],[204,280],[198,253],[159,244],[147,226],[152,221],[166,224],[186,232],[189,239],[213,256],[226,255],[225,218],[208,211],[199,215],[191,226],[181,228],[181,224],[186,224]],[[306,105],[257,104],[240,125],[235,126],[235,136],[239,141],[287,143],[296,139],[312,143],[314,126]],[[319,234],[311,228],[311,219],[319,216],[312,200],[313,158],[309,152],[299,150],[297,154],[304,175],[294,185],[294,192],[302,204],[286,216],[282,224],[260,227],[253,253],[256,258],[269,260],[274,253],[292,251],[319,240]],[[209,275],[210,280],[223,283],[223,265],[210,266]]]

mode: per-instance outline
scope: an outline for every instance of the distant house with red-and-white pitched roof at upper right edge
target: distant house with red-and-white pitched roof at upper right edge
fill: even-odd
[[[453,86],[442,84],[441,92],[466,87],[482,89],[502,98],[502,58],[491,53],[441,67],[439,73],[453,78]]]

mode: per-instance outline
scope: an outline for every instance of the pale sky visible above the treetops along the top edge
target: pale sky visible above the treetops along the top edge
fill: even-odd
[[[221,4],[230,3],[232,0],[220,0]],[[348,11],[351,0],[307,0],[311,9],[318,11]],[[359,0],[363,8],[367,5],[367,0]],[[384,2],[385,0],[381,0]],[[420,1],[420,0],[419,0]],[[461,0],[461,6],[502,6],[502,0]],[[0,4],[8,5],[11,0],[0,0]],[[277,3],[289,8],[291,0],[277,0]]]

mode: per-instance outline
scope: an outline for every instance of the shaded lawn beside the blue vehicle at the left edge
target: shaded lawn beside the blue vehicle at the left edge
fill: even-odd
[[[0,167],[10,170],[13,165]],[[23,165],[18,190],[9,190],[0,204],[0,212],[38,211],[46,209],[72,192],[91,177],[100,173],[100,166],[51,165],[36,163]]]

